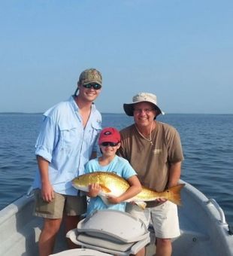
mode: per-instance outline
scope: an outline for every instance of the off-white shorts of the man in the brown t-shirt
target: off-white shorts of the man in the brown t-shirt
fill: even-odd
[[[144,210],[137,205],[127,203],[126,212],[129,212],[136,218],[141,218],[147,227],[152,224],[158,238],[172,239],[180,236],[177,206],[174,203],[166,201],[159,206]]]

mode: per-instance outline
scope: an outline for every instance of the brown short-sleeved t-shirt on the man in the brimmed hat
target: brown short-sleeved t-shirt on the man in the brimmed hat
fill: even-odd
[[[135,128],[135,124],[120,131],[118,154],[129,160],[138,173],[141,184],[158,192],[168,183],[169,166],[183,160],[179,133],[166,123],[156,121],[150,143]]]

